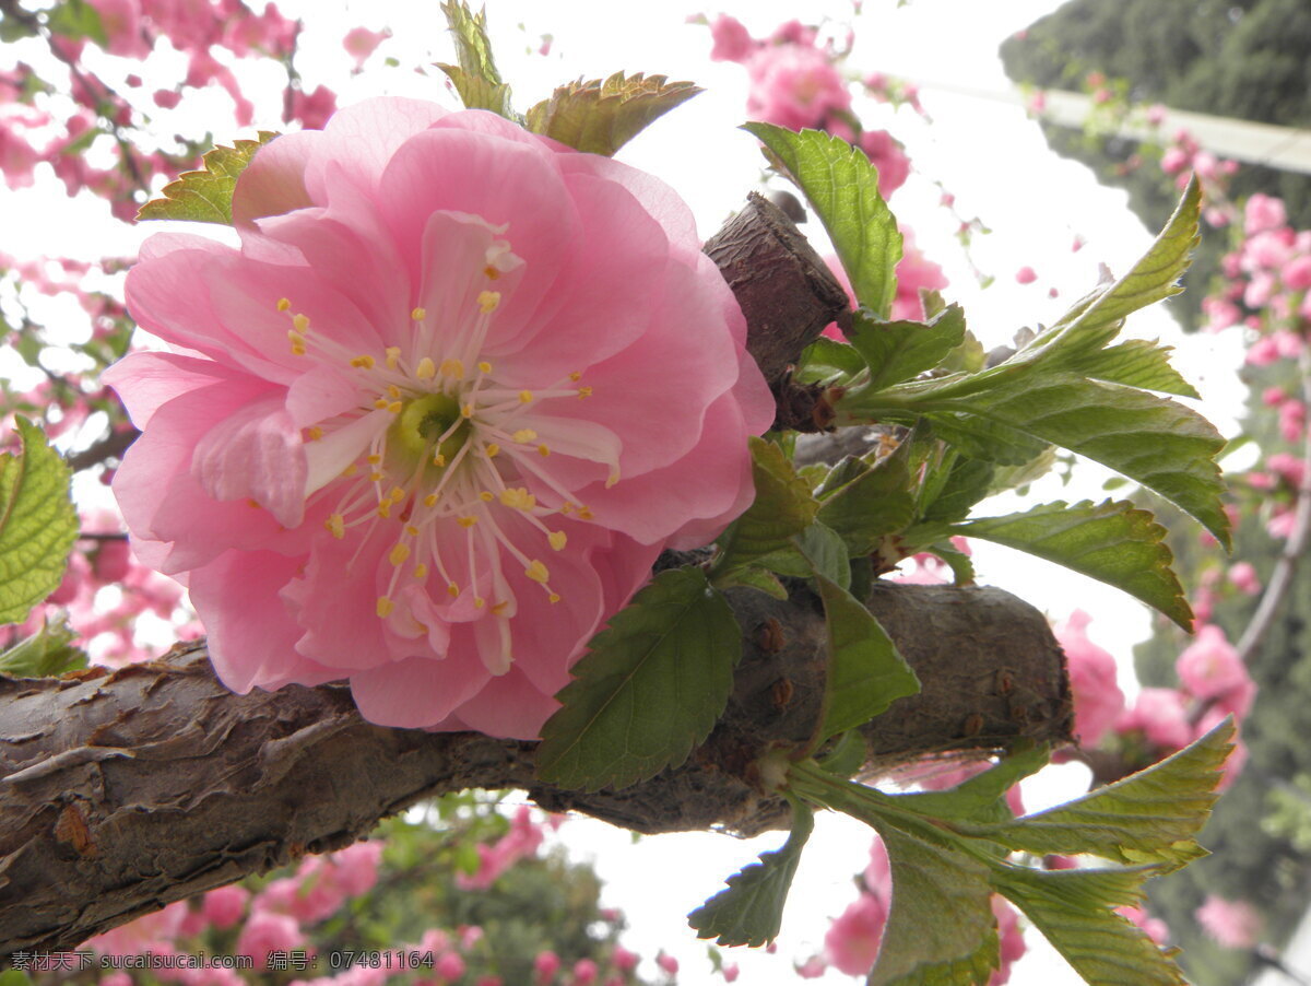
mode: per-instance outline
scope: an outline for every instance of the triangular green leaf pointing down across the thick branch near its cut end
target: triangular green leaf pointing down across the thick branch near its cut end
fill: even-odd
[[[821,574],[815,574],[815,585],[829,637],[825,715],[815,736],[819,743],[882,715],[897,699],[918,694],[919,678],[860,601]]]

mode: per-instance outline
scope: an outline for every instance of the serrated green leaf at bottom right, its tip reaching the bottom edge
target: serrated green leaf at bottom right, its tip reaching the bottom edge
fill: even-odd
[[[1044,872],[998,868],[994,885],[1089,986],[1185,986],[1167,952],[1112,907],[1134,906],[1158,867]]]

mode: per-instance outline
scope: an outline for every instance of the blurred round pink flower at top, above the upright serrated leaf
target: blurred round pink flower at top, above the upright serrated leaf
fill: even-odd
[[[823,51],[801,45],[771,45],[747,62],[751,119],[789,130],[818,127],[834,110],[851,106],[842,73]]]

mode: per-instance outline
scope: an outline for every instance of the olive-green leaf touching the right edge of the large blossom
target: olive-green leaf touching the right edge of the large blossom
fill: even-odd
[[[809,527],[819,509],[783,450],[763,438],[751,438],[751,476],[755,501],[717,542],[720,555],[712,569],[717,586],[737,568],[791,551],[791,538]]]

